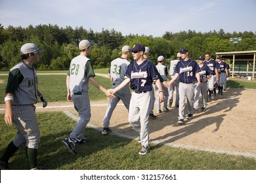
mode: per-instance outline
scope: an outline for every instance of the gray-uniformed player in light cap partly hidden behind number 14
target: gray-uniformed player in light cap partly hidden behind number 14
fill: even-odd
[[[171,75],[171,78],[175,75],[175,67],[178,63],[178,61],[181,60],[181,53],[177,53],[177,59],[174,59],[170,62],[170,68],[169,68],[169,74]],[[176,89],[176,100],[175,100],[175,107],[179,107],[179,78],[175,80],[169,87],[169,105],[168,107],[171,108],[171,105],[173,104],[173,92]]]

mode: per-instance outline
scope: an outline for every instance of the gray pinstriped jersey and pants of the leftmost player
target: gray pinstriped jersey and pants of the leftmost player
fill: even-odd
[[[37,103],[37,74],[34,67],[26,65],[24,61],[12,67],[5,93],[13,95],[13,124],[18,130],[13,144],[20,148],[26,143],[28,148],[37,149],[40,133],[34,106]]]

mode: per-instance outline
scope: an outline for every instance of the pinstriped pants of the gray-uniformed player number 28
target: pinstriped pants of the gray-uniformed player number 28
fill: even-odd
[[[79,114],[80,120],[70,133],[70,138],[72,140],[76,138],[83,139],[85,137],[85,127],[91,119],[91,105],[88,91],[81,92],[81,95],[74,95],[74,93],[72,93],[72,101],[74,103],[75,110]]]

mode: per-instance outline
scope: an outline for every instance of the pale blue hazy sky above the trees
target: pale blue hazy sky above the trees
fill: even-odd
[[[255,9],[256,0],[0,0],[0,24],[82,26],[153,37],[188,30],[255,33]]]

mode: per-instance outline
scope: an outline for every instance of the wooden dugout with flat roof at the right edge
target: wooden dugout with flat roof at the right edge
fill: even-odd
[[[255,76],[255,59],[256,50],[240,51],[240,52],[216,52],[217,56],[228,59],[230,64],[230,75],[246,75],[251,76],[254,80]]]

